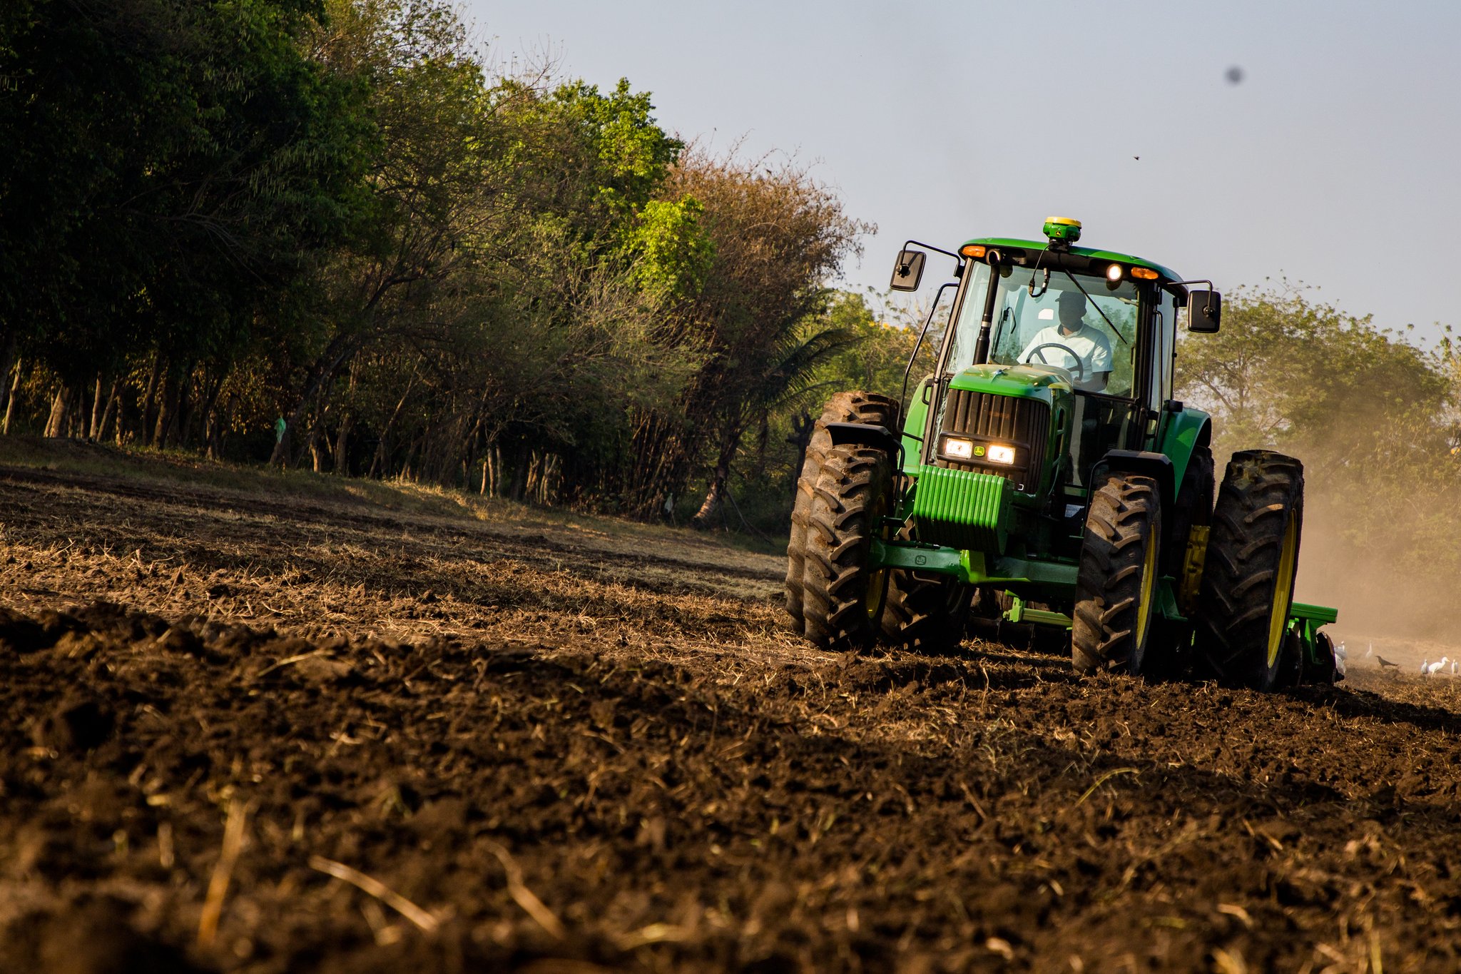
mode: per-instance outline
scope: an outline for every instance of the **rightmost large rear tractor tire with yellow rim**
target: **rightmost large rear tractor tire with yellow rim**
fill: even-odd
[[[1230,686],[1280,682],[1303,530],[1303,464],[1270,450],[1235,453],[1213,511],[1198,596],[1199,670]]]

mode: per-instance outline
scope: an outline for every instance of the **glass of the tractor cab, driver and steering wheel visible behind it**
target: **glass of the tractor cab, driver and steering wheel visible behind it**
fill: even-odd
[[[1064,369],[1084,393],[1131,397],[1137,365],[1137,286],[1129,279],[1026,267],[1001,267],[995,280],[989,361]],[[989,264],[974,264],[974,279],[954,331],[948,369],[973,365],[989,288]]]

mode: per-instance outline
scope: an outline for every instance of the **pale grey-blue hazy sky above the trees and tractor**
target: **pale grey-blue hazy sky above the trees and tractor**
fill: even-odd
[[[1062,215],[1087,245],[1224,291],[1287,277],[1382,326],[1461,324],[1458,3],[469,0],[465,13],[498,61],[628,77],[685,139],[814,164],[878,226],[846,267],[853,286],[885,288],[906,238],[1039,237]]]

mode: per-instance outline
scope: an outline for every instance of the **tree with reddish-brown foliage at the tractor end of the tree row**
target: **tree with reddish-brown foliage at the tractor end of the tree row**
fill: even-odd
[[[710,482],[698,520],[709,523],[747,429],[847,343],[806,323],[825,310],[825,282],[868,228],[805,169],[773,169],[766,159],[690,152],[663,196],[704,206],[714,260],[700,292],[675,310],[676,334],[703,350],[703,364],[675,410],[638,416],[627,504],[640,515],[657,513],[704,463]]]

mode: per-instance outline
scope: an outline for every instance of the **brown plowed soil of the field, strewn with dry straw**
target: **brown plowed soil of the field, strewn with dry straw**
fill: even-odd
[[[833,656],[771,555],[229,476],[0,469],[0,971],[1461,968],[1461,679]]]

